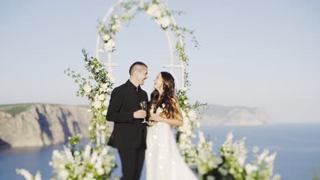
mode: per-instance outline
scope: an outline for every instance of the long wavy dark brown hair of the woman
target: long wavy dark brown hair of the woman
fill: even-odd
[[[181,111],[176,106],[176,101],[178,100],[174,96],[174,77],[169,72],[160,73],[163,81],[163,93],[160,95],[157,89],[152,91],[148,109],[150,110],[153,107],[153,113],[156,113],[157,108],[160,107],[162,109],[160,115],[168,119],[174,119],[176,116],[182,118]]]

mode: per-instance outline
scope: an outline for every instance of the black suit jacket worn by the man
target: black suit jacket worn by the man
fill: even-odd
[[[114,131],[108,145],[116,148],[146,149],[146,123],[133,118],[133,112],[142,109],[140,102],[148,102],[146,91],[135,87],[130,80],[111,93],[107,121],[114,122]]]

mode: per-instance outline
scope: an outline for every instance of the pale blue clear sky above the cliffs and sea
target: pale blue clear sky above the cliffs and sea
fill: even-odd
[[[265,108],[274,123],[320,123],[320,1],[168,0],[186,38],[188,95],[222,106]],[[88,104],[64,74],[88,76],[81,50],[95,56],[96,25],[115,0],[0,1],[0,104]],[[116,36],[116,86],[134,61],[148,65],[142,87],[169,63],[161,28],[139,14]]]

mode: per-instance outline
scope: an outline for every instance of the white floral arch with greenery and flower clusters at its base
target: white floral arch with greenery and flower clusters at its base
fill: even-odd
[[[245,148],[245,138],[233,141],[232,133],[219,148],[219,155],[212,149],[212,142],[204,138],[200,130],[202,108],[206,104],[188,102],[187,90],[189,87],[188,73],[186,67],[189,58],[185,53],[185,34],[193,34],[193,31],[185,27],[179,27],[174,20],[174,15],[181,12],[172,12],[168,5],[158,0],[118,0],[110,8],[97,26],[98,37],[96,40],[96,58],[90,57],[83,50],[85,68],[90,72],[88,78],[83,78],[75,71],[65,71],[68,76],[75,79],[79,84],[77,96],[88,97],[92,112],[90,130],[91,141],[85,147],[76,146],[81,140],[81,135],[69,138],[69,147],[62,151],[53,151],[50,165],[55,172],[55,179],[110,179],[116,164],[112,149],[107,146],[107,140],[111,134],[105,121],[109,95],[114,86],[114,77],[111,75],[112,67],[116,63],[111,61],[112,52],[116,48],[115,37],[122,28],[122,23],[129,22],[135,18],[137,13],[146,12],[148,16],[163,29],[170,48],[170,64],[165,67],[181,69],[181,87],[177,89],[181,108],[183,111],[183,126],[177,129],[177,143],[185,162],[196,172],[200,179],[280,179],[279,175],[273,176],[274,159],[276,153],[269,155],[268,150],[258,154],[258,148],[254,149],[254,159],[245,164],[248,149]],[[195,40],[195,46],[198,42]],[[107,57],[107,58],[105,58]],[[103,63],[104,58],[107,59]],[[105,67],[108,67],[106,70]],[[198,143],[192,140],[198,135]],[[17,170],[26,179],[41,179],[40,173],[36,176],[27,170]]]

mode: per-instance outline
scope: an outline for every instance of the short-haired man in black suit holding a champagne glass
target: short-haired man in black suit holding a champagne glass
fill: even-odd
[[[146,151],[146,110],[141,102],[148,102],[140,85],[148,78],[148,67],[142,62],[131,65],[130,79],[111,93],[107,121],[114,122],[108,145],[118,149],[122,164],[122,180],[138,180]]]

